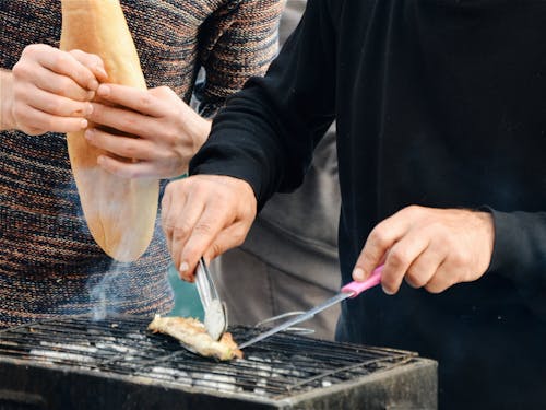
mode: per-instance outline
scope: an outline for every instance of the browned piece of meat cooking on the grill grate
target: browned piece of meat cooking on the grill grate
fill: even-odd
[[[204,325],[191,317],[162,317],[155,315],[147,326],[154,333],[165,333],[174,337],[180,344],[194,353],[219,360],[242,359],[242,352],[238,349],[232,333],[225,332],[216,341],[209,336]]]

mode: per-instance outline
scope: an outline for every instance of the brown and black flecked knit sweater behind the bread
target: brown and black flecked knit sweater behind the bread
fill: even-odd
[[[186,102],[201,67],[201,107],[215,112],[276,54],[284,0],[121,1],[149,87]],[[58,46],[59,0],[0,2],[0,68],[34,43]],[[163,184],[164,185],[164,184]],[[133,263],[109,259],[90,235],[64,134],[0,133],[0,327],[54,315],[152,315],[173,304],[158,224]]]

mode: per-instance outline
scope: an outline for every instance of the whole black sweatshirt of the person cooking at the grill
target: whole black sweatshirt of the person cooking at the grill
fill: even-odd
[[[440,409],[546,408],[546,2],[310,0],[190,172],[244,178],[263,206],[334,118],[344,282],[403,207],[489,210],[496,230],[482,279],[376,288],[344,304],[339,339],[438,360]]]

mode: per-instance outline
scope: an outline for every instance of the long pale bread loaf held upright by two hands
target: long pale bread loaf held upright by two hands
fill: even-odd
[[[62,0],[60,48],[96,54],[109,82],[146,89],[119,0]],[[136,260],[154,234],[159,183],[107,173],[97,165],[105,151],[87,143],[83,133],[67,133],[67,142],[90,232],[111,258]]]

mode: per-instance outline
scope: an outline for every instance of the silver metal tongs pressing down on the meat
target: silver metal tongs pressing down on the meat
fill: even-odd
[[[195,272],[195,285],[204,309],[205,329],[214,340],[219,340],[227,330],[227,308],[219,300],[218,291],[203,257]]]

